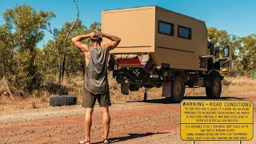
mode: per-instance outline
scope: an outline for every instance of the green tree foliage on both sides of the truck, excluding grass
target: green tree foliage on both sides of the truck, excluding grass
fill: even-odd
[[[0,25],[0,79],[6,78],[11,86],[32,92],[38,89],[50,90],[52,86],[62,87],[57,81],[61,79],[63,63],[66,63],[66,79],[81,77],[85,73],[84,54],[72,44],[71,38],[89,34],[93,30],[100,31],[101,24],[93,22],[86,27],[78,19],[67,39],[66,62],[63,62],[66,34],[72,22],[64,23],[59,29],[51,29],[50,20],[54,17],[55,14],[51,11],[37,12],[29,5],[14,6],[13,9],[6,10],[3,14],[5,23]],[[50,32],[53,38],[43,49],[38,49],[36,45],[44,38],[45,32]],[[231,75],[253,76],[256,68],[256,34],[238,37],[226,30],[209,27],[208,38],[218,45],[231,46]],[[84,42],[91,45],[90,39]],[[60,88],[55,91],[59,90]]]

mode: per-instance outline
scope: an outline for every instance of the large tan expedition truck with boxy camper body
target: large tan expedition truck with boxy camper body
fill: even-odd
[[[186,87],[202,86],[219,98],[231,71],[230,46],[209,42],[205,22],[158,6],[102,11],[102,32],[122,38],[108,60],[122,94],[145,87],[146,100],[146,89],[162,87],[162,97],[181,102]]]

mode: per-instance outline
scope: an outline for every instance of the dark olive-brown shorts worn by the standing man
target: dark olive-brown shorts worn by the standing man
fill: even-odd
[[[85,89],[82,96],[82,107],[94,108],[96,99],[98,99],[99,106],[101,107],[111,106],[109,90],[106,94],[91,94]]]

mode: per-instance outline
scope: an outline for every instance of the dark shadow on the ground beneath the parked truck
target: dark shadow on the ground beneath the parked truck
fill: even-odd
[[[236,98],[236,97],[221,97],[218,99],[210,99],[207,98],[206,96],[187,96],[184,97],[183,99],[197,99],[197,100],[228,100],[228,99],[245,99],[245,98]],[[144,102],[143,100],[140,101],[127,101],[127,102]],[[169,102],[166,98],[161,98],[161,99],[150,99],[146,100],[146,103],[162,103],[162,104],[171,104],[173,102]]]

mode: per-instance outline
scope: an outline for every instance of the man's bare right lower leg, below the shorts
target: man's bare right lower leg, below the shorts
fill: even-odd
[[[101,111],[102,111],[102,114],[103,114],[102,123],[103,123],[103,128],[104,128],[104,138],[107,139],[108,136],[109,136],[109,132],[110,132],[109,108],[107,106],[106,107],[101,107]]]

